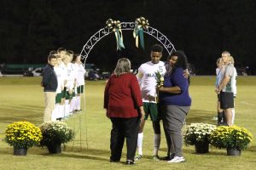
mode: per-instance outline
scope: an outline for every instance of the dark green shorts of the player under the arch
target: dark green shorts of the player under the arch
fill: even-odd
[[[160,118],[160,109],[157,104],[143,102],[143,108],[145,111],[144,120],[148,119],[148,115],[150,116],[151,121],[153,121],[153,122],[159,121],[161,119]]]

